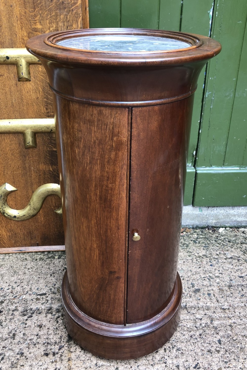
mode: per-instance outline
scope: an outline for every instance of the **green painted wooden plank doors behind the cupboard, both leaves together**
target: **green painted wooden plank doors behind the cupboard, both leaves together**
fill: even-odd
[[[90,28],[183,31],[222,44],[195,93],[185,205],[247,205],[246,20],[246,0],[89,0]]]

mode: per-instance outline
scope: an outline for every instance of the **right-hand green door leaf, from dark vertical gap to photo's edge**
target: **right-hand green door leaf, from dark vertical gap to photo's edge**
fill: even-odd
[[[215,2],[212,37],[222,44],[222,51],[207,69],[195,206],[247,205],[246,19],[246,0]]]

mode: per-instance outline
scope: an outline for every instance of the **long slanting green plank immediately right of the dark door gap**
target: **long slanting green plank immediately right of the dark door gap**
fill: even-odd
[[[209,64],[198,167],[223,165],[246,12],[246,0],[217,0],[213,38],[222,52]]]

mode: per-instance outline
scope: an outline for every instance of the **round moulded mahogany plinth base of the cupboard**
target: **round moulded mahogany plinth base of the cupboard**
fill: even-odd
[[[127,360],[154,352],[174,334],[180,319],[182,282],[177,273],[173,295],[162,312],[152,319],[126,326],[103,323],[80,311],[69,293],[67,272],[61,295],[65,325],[76,343],[96,356]]]

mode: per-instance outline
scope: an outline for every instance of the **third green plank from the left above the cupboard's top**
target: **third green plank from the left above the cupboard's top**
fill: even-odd
[[[160,30],[179,31],[181,6],[181,0],[160,0],[158,23]]]

